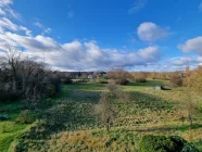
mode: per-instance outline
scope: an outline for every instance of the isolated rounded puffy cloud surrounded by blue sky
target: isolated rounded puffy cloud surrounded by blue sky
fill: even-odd
[[[139,39],[143,41],[155,41],[167,36],[167,29],[157,26],[152,22],[144,22],[137,29]]]

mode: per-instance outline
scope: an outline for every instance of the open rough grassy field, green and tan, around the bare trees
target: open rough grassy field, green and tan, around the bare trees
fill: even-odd
[[[122,86],[131,101],[114,101],[118,117],[109,132],[103,125],[97,124],[93,113],[100,93],[108,91],[103,84],[63,85],[60,97],[43,100],[36,111],[48,115],[52,122],[48,117],[33,125],[20,124],[20,113],[25,110],[23,103],[0,104],[0,114],[11,116],[10,121],[0,122],[0,151],[9,151],[11,144],[41,152],[137,151],[138,141],[144,135],[177,135],[202,151],[201,114],[195,115],[192,126],[187,121],[182,125],[179,113],[186,113],[181,109],[184,92],[180,89],[154,90],[155,85],[166,84],[165,80],[148,80]],[[202,104],[199,98],[194,101]],[[47,122],[51,125],[45,125]],[[65,125],[61,126],[60,123]],[[7,132],[2,131],[4,126]]]

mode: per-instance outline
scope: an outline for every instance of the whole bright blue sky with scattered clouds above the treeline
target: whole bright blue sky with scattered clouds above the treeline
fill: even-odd
[[[8,45],[59,71],[195,68],[202,0],[0,0]]]

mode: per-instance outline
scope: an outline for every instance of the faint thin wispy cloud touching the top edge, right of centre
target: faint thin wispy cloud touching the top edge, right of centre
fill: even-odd
[[[136,0],[136,2],[134,2],[131,4],[131,8],[128,10],[128,14],[132,14],[138,12],[139,10],[143,9],[147,4],[147,0]]]

